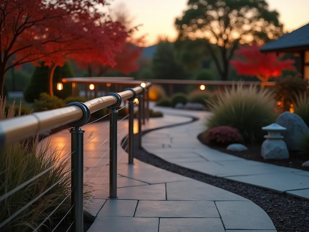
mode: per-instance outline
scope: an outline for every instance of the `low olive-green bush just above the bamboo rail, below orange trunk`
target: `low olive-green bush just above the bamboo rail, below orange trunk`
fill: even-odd
[[[65,107],[66,104],[59,97],[53,96],[51,97],[46,92],[40,94],[39,100],[34,100],[34,110],[36,112],[45,111],[45,110],[53,110],[61,107]]]

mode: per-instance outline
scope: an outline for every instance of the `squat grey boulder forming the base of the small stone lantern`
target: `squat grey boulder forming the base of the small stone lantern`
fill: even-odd
[[[281,160],[289,158],[289,151],[283,140],[267,139],[262,144],[261,155],[265,160]]]

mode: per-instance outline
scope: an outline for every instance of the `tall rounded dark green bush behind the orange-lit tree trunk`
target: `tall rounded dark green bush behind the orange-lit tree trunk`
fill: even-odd
[[[39,99],[40,93],[48,92],[48,73],[49,67],[43,64],[35,68],[30,83],[24,91],[24,98],[27,102],[34,102],[35,99]],[[74,72],[70,63],[64,63],[63,67],[56,67],[53,75],[54,95],[61,99],[66,99],[72,95],[72,84],[70,83],[63,83],[63,89],[57,90],[57,83],[64,77],[74,77]]]

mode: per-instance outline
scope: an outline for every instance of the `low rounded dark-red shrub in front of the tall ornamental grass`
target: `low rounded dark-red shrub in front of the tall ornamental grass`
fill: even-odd
[[[241,134],[238,129],[228,126],[214,127],[205,134],[206,144],[214,146],[227,146],[242,143]]]

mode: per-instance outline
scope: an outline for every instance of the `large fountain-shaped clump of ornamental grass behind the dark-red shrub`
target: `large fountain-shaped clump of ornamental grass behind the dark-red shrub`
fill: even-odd
[[[208,102],[212,115],[207,117],[206,127],[211,129],[230,126],[239,130],[245,143],[260,142],[265,127],[275,122],[275,101],[267,89],[244,87],[242,83],[218,94],[217,101]]]

